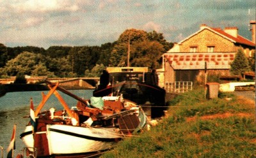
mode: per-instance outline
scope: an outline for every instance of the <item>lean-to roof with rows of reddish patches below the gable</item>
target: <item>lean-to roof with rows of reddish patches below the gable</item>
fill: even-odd
[[[225,53],[166,53],[164,58],[173,69],[230,69],[236,52]]]

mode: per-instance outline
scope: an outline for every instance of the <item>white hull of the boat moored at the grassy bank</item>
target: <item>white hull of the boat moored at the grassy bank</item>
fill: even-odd
[[[97,128],[48,124],[46,129],[46,131],[36,134],[46,134],[47,141],[45,140],[45,143],[49,147],[49,155],[82,154],[107,150],[123,138],[119,129],[115,127]],[[32,127],[27,126],[25,130],[27,134],[20,136],[27,147],[33,147],[35,143],[31,130]],[[41,149],[38,148],[38,150]]]

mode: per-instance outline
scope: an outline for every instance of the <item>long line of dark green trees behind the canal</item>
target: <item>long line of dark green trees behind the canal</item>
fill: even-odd
[[[0,43],[0,78],[9,76],[99,76],[108,66],[160,68],[161,55],[173,47],[162,33],[127,29],[117,41],[101,46],[6,47]]]

